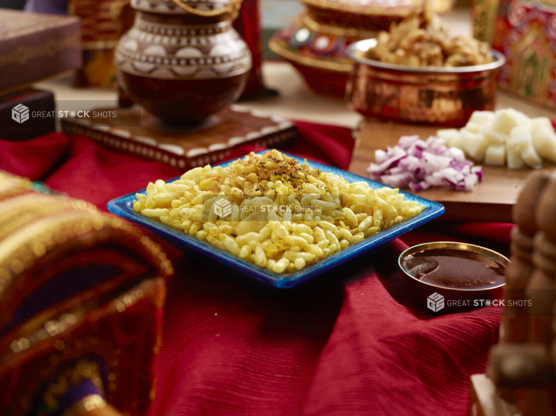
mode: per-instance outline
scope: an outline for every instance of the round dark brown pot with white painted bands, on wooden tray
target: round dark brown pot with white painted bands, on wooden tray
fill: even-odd
[[[202,123],[234,103],[251,69],[249,48],[232,27],[239,3],[131,0],[135,23],[115,65],[133,102],[178,124]]]

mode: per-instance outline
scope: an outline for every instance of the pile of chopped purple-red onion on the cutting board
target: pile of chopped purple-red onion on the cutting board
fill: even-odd
[[[483,168],[465,159],[458,148],[447,148],[444,139],[426,141],[419,136],[401,136],[394,147],[375,151],[375,163],[367,171],[371,179],[418,192],[431,186],[449,186],[470,191],[483,180]]]

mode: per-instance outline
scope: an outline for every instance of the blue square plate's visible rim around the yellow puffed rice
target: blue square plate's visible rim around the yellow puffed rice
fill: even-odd
[[[261,151],[257,154],[262,153],[264,153],[264,151]],[[290,155],[285,152],[282,153],[290,156],[291,158],[294,158],[299,163],[305,163],[303,159],[297,156]],[[229,160],[224,163],[212,166],[226,166],[231,162],[232,160]],[[368,179],[364,176],[355,175],[345,170],[335,168],[334,166],[324,165],[314,161],[309,161],[309,165],[311,166],[311,168],[316,168],[320,169],[323,172],[329,172],[335,175],[339,175],[349,182],[365,181],[373,189],[377,189],[379,187],[389,187],[381,184],[380,182]],[[153,181],[156,179],[158,178],[153,178]],[[166,182],[172,182],[178,179],[180,179],[180,176],[169,179]],[[245,275],[247,276],[255,278],[256,280],[262,283],[266,283],[267,285],[281,289],[292,288],[300,285],[301,283],[304,283],[311,278],[319,276],[322,273],[329,271],[332,268],[345,263],[346,261],[351,260],[352,258],[362,255],[363,253],[370,250],[379,248],[380,246],[384,245],[384,243],[394,240],[396,237],[399,237],[405,232],[413,230],[416,227],[419,227],[420,225],[423,225],[426,222],[429,222],[444,213],[444,206],[439,204],[438,202],[431,201],[423,197],[411,194],[410,192],[400,190],[400,193],[405,195],[406,200],[418,201],[420,205],[425,206],[425,209],[423,210],[423,212],[421,212],[421,214],[409,220],[403,221],[398,225],[390,227],[389,229],[380,231],[374,236],[367,237],[363,241],[360,241],[353,246],[349,246],[344,250],[336,252],[333,255],[324,258],[323,260],[312,263],[311,265],[306,266],[299,271],[291,273],[274,273],[267,270],[266,268],[256,266],[249,261],[236,257],[227,251],[212,246],[206,241],[198,240],[196,237],[192,237],[183,231],[173,229],[166,224],[162,224],[162,222],[160,221],[151,219],[134,211],[133,200],[135,199],[135,194],[144,194],[145,192],[146,188],[111,200],[107,204],[108,211],[121,216],[126,220],[142,225],[147,229],[155,232],[155,234],[157,234],[158,236],[165,238],[166,240],[169,239],[185,245],[189,248],[192,248],[193,250],[205,253],[205,255],[212,257],[215,260],[224,263],[225,265],[231,266],[235,270],[245,273]]]

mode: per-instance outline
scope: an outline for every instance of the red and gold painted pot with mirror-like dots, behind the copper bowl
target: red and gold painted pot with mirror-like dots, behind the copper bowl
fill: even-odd
[[[419,0],[301,0],[307,10],[270,39],[270,49],[299,70],[319,94],[343,98],[353,61],[347,45],[374,38],[420,6]],[[433,0],[448,12],[453,0]]]

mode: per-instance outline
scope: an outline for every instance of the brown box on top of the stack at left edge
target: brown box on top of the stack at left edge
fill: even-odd
[[[77,17],[0,9],[0,95],[79,67]]]

